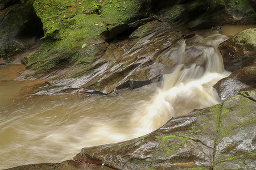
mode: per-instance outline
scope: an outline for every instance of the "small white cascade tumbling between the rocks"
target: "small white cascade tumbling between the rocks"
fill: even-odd
[[[143,135],[160,128],[171,117],[191,112],[193,109],[210,107],[221,102],[213,85],[230,73],[224,71],[218,45],[226,36],[214,33],[207,37],[196,35],[189,39],[200,49],[203,62],[186,63],[189,53],[187,42],[180,41],[180,47],[173,50],[170,58],[179,58],[179,64],[171,74],[164,75],[162,88],[148,101],[141,102],[141,108],[134,113],[131,124],[135,133]],[[175,56],[176,55],[176,56]]]

